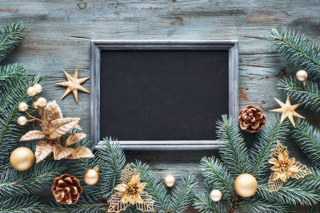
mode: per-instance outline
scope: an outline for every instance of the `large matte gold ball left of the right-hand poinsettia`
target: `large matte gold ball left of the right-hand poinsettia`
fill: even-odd
[[[234,186],[238,195],[247,198],[257,192],[258,182],[256,178],[250,174],[241,174],[236,178]]]

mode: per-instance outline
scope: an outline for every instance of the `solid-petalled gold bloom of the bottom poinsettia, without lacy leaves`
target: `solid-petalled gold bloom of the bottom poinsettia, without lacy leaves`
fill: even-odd
[[[120,183],[116,186],[117,195],[122,197],[121,202],[126,204],[143,203],[141,193],[144,191],[147,183],[140,183],[140,175],[134,175],[128,184]]]

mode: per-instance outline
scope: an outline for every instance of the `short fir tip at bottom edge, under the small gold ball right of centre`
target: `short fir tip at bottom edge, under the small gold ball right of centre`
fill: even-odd
[[[195,209],[200,211],[201,213],[226,213],[227,208],[222,204],[222,202],[213,202],[209,193],[200,192],[197,193],[193,206]]]

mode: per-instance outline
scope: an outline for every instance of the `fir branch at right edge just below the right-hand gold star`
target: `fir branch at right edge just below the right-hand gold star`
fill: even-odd
[[[320,167],[320,131],[314,129],[307,120],[299,120],[293,130],[292,138],[310,161],[316,167]]]

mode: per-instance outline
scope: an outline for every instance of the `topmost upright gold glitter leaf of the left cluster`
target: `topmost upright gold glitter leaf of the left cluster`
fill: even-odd
[[[56,119],[62,119],[62,112],[56,101],[48,102],[41,114],[41,128],[45,135],[49,135],[49,124]]]

